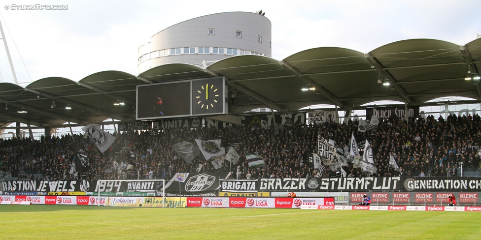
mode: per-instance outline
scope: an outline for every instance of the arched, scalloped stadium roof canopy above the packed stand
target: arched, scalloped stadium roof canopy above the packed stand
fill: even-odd
[[[206,69],[172,63],[138,76],[121,71],[94,73],[78,83],[62,77],[37,80],[25,88],[0,83],[0,126],[10,122],[58,127],[70,122],[85,125],[106,119],[136,119],[136,86],[225,76],[229,113],[240,115],[255,108],[295,112],[315,104],[340,110],[392,100],[409,105],[445,96],[481,101],[481,38],[464,46],[433,39],[411,39],[381,46],[367,54],[345,48],[305,50],[284,60],[243,55],[220,60]],[[386,79],[390,86],[378,83]],[[303,88],[315,90],[303,91]],[[113,105],[120,101],[125,105]],[[53,102],[55,104],[53,104]],[[71,109],[65,107],[70,105]],[[26,113],[18,113],[25,110]]]

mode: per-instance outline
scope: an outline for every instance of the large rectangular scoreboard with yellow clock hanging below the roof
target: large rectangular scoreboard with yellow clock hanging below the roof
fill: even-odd
[[[225,77],[137,85],[137,120],[228,113]]]

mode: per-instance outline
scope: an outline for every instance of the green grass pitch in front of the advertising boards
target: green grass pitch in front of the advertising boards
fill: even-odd
[[[481,212],[0,205],[5,239],[481,239]]]

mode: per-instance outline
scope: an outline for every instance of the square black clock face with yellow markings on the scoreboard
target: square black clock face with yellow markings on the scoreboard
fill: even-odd
[[[192,81],[192,115],[224,113],[222,78]]]

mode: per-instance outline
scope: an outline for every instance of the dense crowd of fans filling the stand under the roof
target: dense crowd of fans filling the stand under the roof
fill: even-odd
[[[365,140],[371,144],[376,176],[457,176],[459,167],[465,171],[480,169],[481,119],[449,115],[446,120],[433,116],[426,119],[405,119],[391,117],[380,119],[378,130],[358,132],[358,121],[293,126],[260,125],[229,126],[221,129],[194,128],[170,129],[165,131],[129,131],[118,133],[109,150],[100,152],[93,142],[83,135],[43,136],[38,140],[30,138],[0,139],[0,171],[9,172],[12,177],[29,180],[66,180],[82,178],[122,179],[125,171],[118,172],[113,162],[124,166],[132,165],[128,178],[171,179],[175,173],[199,171],[204,173],[232,172],[230,178],[310,178],[317,175],[317,169],[309,168],[306,154],[317,151],[317,136],[331,139],[348,155],[351,134],[357,143]],[[240,155],[236,164],[223,161],[215,169],[202,154],[186,163],[172,149],[172,145],[194,139],[221,139],[224,147],[233,147]],[[84,172],[70,173],[71,164],[78,152],[88,155],[90,167]],[[247,151],[260,154],[265,167],[249,169],[245,159]],[[393,155],[400,171],[389,167]],[[202,165],[202,168],[200,168]],[[366,176],[361,169],[354,169],[352,163],[343,167],[347,177]],[[4,175],[4,174],[2,174]],[[317,175],[319,176],[319,175]],[[322,177],[339,177],[340,171],[327,169]]]

